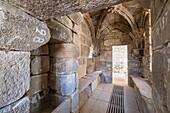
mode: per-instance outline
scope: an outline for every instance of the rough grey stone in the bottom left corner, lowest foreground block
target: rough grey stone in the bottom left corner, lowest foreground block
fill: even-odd
[[[29,113],[30,103],[29,98],[24,97],[8,106],[0,108],[0,113]]]

